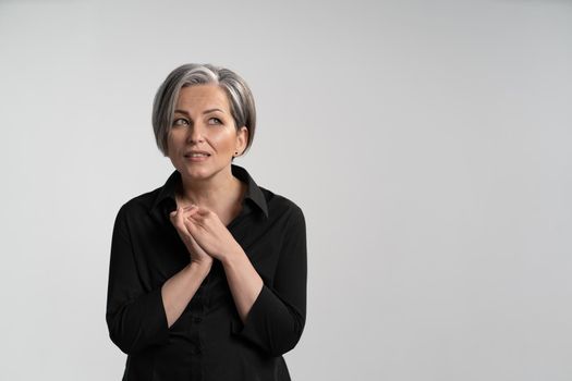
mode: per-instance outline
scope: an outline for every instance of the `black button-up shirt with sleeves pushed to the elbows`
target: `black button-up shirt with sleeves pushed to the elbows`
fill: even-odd
[[[227,228],[264,281],[244,324],[215,260],[168,328],[161,285],[190,261],[169,220],[179,172],[119,210],[106,319],[111,340],[129,355],[123,380],[290,380],[282,354],[296,345],[306,317],[304,216],[292,201],[258,187],[244,169],[232,165],[232,173],[247,190]]]

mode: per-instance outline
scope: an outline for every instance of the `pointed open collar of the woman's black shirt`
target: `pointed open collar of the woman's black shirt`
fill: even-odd
[[[247,206],[247,201],[258,208],[266,218],[268,218],[268,205],[260,187],[251,177],[248,172],[239,165],[231,164],[232,175],[247,185],[246,193],[244,194],[243,206]],[[159,188],[157,198],[153,202],[150,212],[160,209],[161,206],[166,208],[168,212],[177,208],[175,204],[175,189],[181,184],[181,173],[173,171],[162,187]]]

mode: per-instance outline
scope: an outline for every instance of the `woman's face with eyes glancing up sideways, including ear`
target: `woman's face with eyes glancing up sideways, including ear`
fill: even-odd
[[[188,180],[232,175],[234,152],[246,148],[248,131],[236,128],[227,94],[217,85],[183,87],[179,93],[168,156]]]

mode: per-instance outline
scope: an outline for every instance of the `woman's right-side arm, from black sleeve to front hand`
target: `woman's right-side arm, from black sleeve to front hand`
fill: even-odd
[[[242,324],[233,327],[233,332],[273,356],[294,347],[302,335],[306,316],[305,221],[296,206],[292,206],[288,213],[271,285],[264,284],[216,213],[199,209],[186,223],[196,242],[224,267],[242,320]]]

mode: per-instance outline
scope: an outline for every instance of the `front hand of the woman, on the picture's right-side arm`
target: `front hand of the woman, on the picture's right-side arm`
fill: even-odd
[[[242,251],[242,247],[217,213],[205,208],[195,208],[186,216],[185,226],[196,244],[223,263],[226,259]]]

